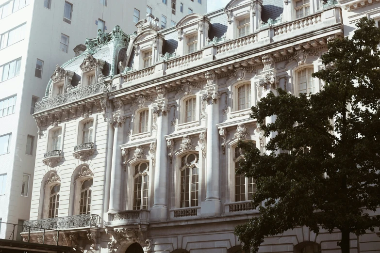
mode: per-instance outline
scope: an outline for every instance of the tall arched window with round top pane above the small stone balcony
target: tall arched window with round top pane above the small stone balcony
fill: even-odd
[[[149,163],[140,162],[134,167],[133,210],[148,209]]]

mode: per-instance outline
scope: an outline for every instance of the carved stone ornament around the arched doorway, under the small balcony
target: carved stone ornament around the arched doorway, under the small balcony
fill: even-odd
[[[108,253],[114,253],[122,243],[137,242],[143,248],[144,253],[151,252],[151,240],[146,238],[147,228],[139,227],[138,230],[131,228],[114,228],[113,230],[107,230],[106,234],[110,236],[107,248]]]

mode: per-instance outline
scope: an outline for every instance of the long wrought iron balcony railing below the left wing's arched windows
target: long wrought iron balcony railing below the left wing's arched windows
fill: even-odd
[[[82,214],[66,217],[57,217],[35,221],[24,221],[22,232],[44,231],[44,230],[64,230],[72,228],[97,228],[100,225],[100,216],[96,214]]]

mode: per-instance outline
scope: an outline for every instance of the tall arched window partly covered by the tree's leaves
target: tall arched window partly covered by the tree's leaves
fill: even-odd
[[[236,174],[236,170],[240,168],[240,160],[244,159],[241,148],[234,148],[234,169],[235,169],[235,201],[251,200],[256,192],[256,184],[252,177],[246,177],[244,174]]]

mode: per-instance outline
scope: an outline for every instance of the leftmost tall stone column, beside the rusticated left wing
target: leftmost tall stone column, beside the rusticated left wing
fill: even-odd
[[[126,118],[124,117],[124,111],[122,111],[123,101],[114,99],[115,109],[118,105],[118,111],[113,113],[113,117],[110,118],[110,124],[114,126],[114,146],[112,153],[112,165],[111,165],[111,188],[110,188],[110,208],[108,212],[120,211],[120,196],[121,196],[121,172],[122,172],[122,155],[120,145],[123,143],[123,123]]]

